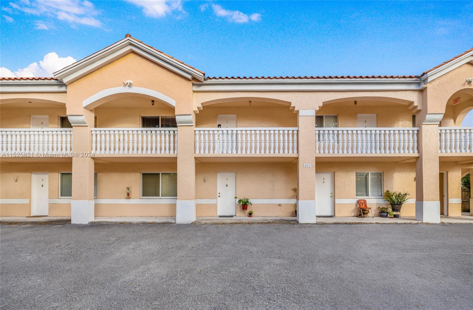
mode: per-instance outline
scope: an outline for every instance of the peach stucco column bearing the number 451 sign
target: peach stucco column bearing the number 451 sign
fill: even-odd
[[[315,223],[315,110],[299,110],[297,220]]]

